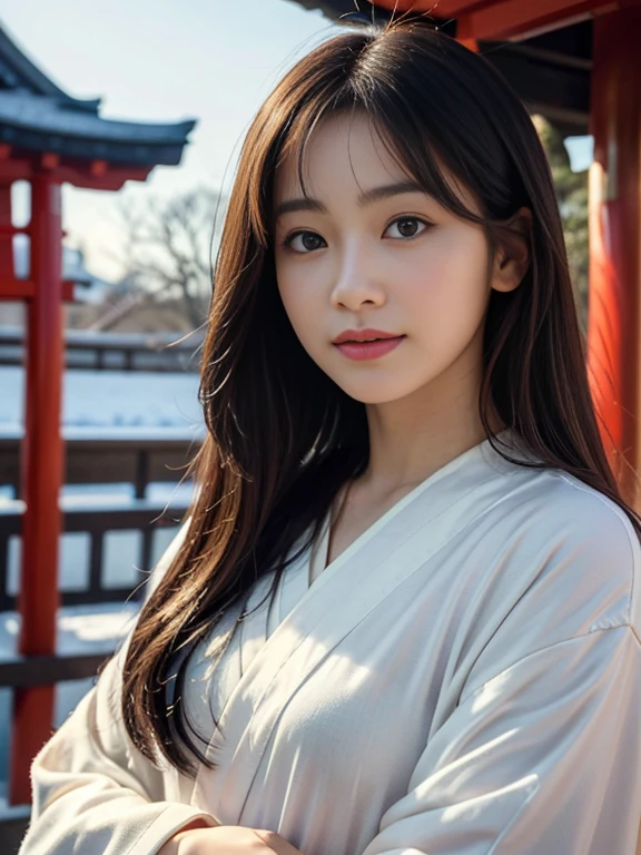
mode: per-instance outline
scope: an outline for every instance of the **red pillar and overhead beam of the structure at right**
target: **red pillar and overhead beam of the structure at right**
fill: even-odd
[[[334,19],[351,17],[343,0],[294,1]],[[619,453],[637,472],[641,470],[641,0],[365,0],[359,9],[356,20],[363,22],[373,12],[427,14],[446,31],[453,29],[456,39],[472,50],[481,41],[526,42],[592,21],[589,131],[594,137],[594,161],[590,168],[586,360],[594,403],[615,443],[612,448],[602,426],[612,469],[625,498],[637,505],[641,501],[637,483],[620,464]],[[541,71],[535,61],[550,60],[541,80],[549,81],[560,68],[554,67],[552,51],[540,46],[527,50],[523,56],[534,57],[529,80],[523,66],[504,60],[505,69],[500,70],[509,79],[511,68],[517,70],[516,90],[538,89],[541,98],[544,83],[534,86]],[[500,55],[491,51],[489,59],[495,61]],[[575,57],[566,60],[575,68],[585,62]],[[522,97],[527,100],[525,94]],[[554,119],[570,134],[573,122],[581,124],[579,110],[559,109],[558,100],[558,92],[550,91],[541,106],[551,106]]]

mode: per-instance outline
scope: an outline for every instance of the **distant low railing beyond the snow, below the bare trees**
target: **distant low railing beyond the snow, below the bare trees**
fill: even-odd
[[[0,365],[22,365],[23,330],[0,325]],[[98,333],[65,332],[68,368],[93,371],[198,371],[203,333]]]

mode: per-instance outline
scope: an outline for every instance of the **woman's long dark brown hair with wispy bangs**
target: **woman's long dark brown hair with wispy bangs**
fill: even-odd
[[[140,611],[124,666],[122,716],[134,744],[151,760],[159,748],[191,776],[195,759],[216,766],[191,739],[207,737],[195,733],[180,704],[191,653],[272,570],[274,593],[287,557],[309,546],[339,488],[368,461],[365,406],[304,351],[274,264],[275,169],[296,156],[303,185],[305,146],[317,124],[339,110],[367,116],[406,173],[453,214],[480,223],[492,248],[523,239],[514,216],[531,212],[527,272],[514,291],[490,297],[483,428],[506,456],[490,429],[493,402],[542,461],[523,465],[575,475],[619,504],[641,534],[599,432],[554,186],[524,106],[487,60],[424,23],[332,38],[285,76],[246,136],[201,356],[207,438],[190,468],[198,489],[187,537]],[[452,191],[437,158],[480,202],[482,217]],[[168,704],[165,686],[178,652]]]

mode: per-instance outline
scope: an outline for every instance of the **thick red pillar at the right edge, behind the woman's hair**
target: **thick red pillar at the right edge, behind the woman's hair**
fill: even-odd
[[[641,335],[641,8],[594,19],[591,81],[588,367],[617,449],[639,470]],[[629,501],[634,480],[603,440]]]

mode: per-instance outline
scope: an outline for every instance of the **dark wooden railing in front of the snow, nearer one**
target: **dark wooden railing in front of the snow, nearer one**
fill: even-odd
[[[86,438],[66,443],[67,484],[130,483],[134,499],[121,501],[80,502],[77,498],[61,500],[65,534],[83,532],[89,539],[87,550],[87,580],[82,588],[71,590],[60,586],[62,607],[114,603],[114,610],[126,602],[139,603],[145,597],[144,582],[154,566],[154,539],[160,529],[177,528],[187,511],[183,499],[168,505],[152,501],[151,482],[177,483],[184,466],[196,451],[198,439],[126,440]],[[19,488],[19,439],[0,439],[0,485]],[[183,491],[189,493],[189,490]],[[14,612],[17,596],[9,590],[10,544],[20,538],[23,503],[10,499],[0,503],[0,612]],[[139,532],[139,550],[134,557],[131,581],[119,587],[109,586],[105,578],[106,540],[110,532]],[[14,689],[81,680],[95,677],[98,668],[114,650],[57,653],[53,656],[0,656],[0,689]],[[29,805],[14,805],[0,810],[0,853],[16,853],[30,816]]]

